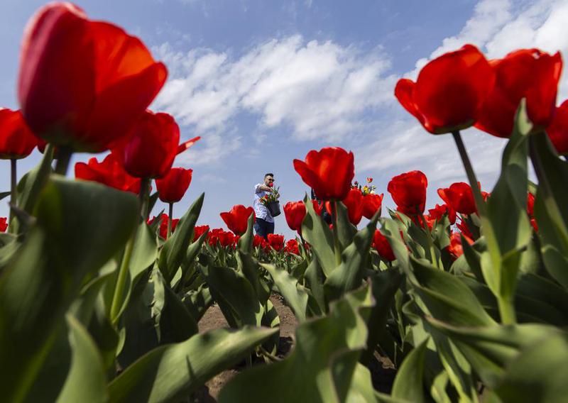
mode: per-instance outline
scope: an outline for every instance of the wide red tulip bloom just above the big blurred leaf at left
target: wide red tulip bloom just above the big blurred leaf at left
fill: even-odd
[[[131,177],[116,160],[113,154],[107,155],[102,162],[97,158],[89,159],[89,162],[77,162],[75,164],[75,177],[82,180],[90,180],[106,184],[114,189],[126,192],[140,192],[140,179]]]

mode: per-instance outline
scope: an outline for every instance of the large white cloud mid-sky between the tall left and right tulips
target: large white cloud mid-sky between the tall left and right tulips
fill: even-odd
[[[380,49],[368,54],[300,35],[269,40],[241,57],[209,49],[155,49],[170,79],[153,107],[173,114],[197,134],[226,136],[245,111],[261,128],[289,125],[297,140],[342,140],[361,130],[361,114],[391,102],[395,77]]]

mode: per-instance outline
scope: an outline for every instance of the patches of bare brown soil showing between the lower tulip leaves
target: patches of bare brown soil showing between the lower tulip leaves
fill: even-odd
[[[273,294],[271,296],[271,302],[274,304],[278,316],[280,317],[280,345],[276,355],[283,358],[285,355],[288,355],[293,348],[297,321],[293,312],[285,305],[285,300],[279,294]],[[213,304],[212,307],[207,309],[202,319],[199,321],[198,326],[200,333],[204,333],[212,329],[228,328],[229,324],[227,324],[219,306]],[[219,392],[226,382],[229,382],[234,375],[245,368],[246,367],[241,364],[237,365],[235,368],[221,372],[219,375],[209,380],[204,387],[195,392],[191,401],[195,403],[217,402]],[[396,374],[395,367],[393,363],[391,363],[391,360],[375,353],[374,359],[371,360],[369,365],[369,370],[371,370],[371,377],[375,389],[380,392],[390,393]]]

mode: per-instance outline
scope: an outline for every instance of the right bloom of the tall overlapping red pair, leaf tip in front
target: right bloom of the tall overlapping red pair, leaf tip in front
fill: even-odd
[[[491,60],[496,81],[486,99],[476,128],[493,136],[509,137],[520,100],[527,99],[528,118],[534,131],[546,128],[555,111],[558,81],[562,72],[560,53],[522,49],[500,60]]]

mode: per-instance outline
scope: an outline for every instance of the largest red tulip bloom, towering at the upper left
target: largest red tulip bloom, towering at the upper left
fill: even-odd
[[[95,153],[128,136],[167,75],[138,38],[74,4],[50,3],[26,26],[18,99],[38,136]]]

